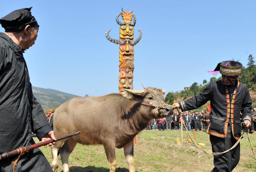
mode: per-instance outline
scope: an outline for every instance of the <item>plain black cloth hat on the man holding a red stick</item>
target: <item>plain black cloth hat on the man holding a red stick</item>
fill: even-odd
[[[34,16],[31,15],[30,8],[23,8],[10,12],[0,19],[0,24],[6,32],[22,31],[27,25],[39,27]]]

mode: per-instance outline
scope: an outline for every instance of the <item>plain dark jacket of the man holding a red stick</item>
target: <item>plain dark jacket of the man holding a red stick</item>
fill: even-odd
[[[32,93],[23,50],[0,33],[0,153],[34,143],[52,129]]]

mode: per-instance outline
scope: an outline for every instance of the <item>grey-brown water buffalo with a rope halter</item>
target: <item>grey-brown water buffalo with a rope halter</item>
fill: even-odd
[[[100,97],[75,97],[56,110],[53,117],[55,136],[81,131],[80,135],[58,141],[51,146],[52,169],[58,169],[58,151],[63,171],[69,171],[68,158],[77,143],[104,146],[110,172],[115,171],[115,148],[123,148],[129,172],[135,172],[133,138],[153,118],[173,114],[172,106],[155,108],[164,102],[164,90],[145,88],[124,89],[122,94],[108,94]],[[64,143],[65,141],[65,143]],[[64,143],[64,144],[63,144]],[[62,146],[63,145],[63,146]]]

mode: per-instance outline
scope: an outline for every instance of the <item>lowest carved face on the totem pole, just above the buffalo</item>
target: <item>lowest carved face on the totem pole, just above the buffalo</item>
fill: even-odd
[[[132,69],[124,69],[119,70],[119,84],[118,84],[119,92],[123,92],[123,88],[133,89],[133,70]]]

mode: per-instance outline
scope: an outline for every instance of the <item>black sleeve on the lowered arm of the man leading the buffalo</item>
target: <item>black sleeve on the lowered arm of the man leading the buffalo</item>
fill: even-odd
[[[242,104],[242,108],[241,108],[241,112],[242,112],[242,116],[241,118],[244,120],[249,120],[251,122],[251,96],[250,96],[250,93],[249,93],[249,90],[248,88],[246,88],[247,91],[245,93],[245,97],[244,97],[244,100],[243,100],[243,104]]]

